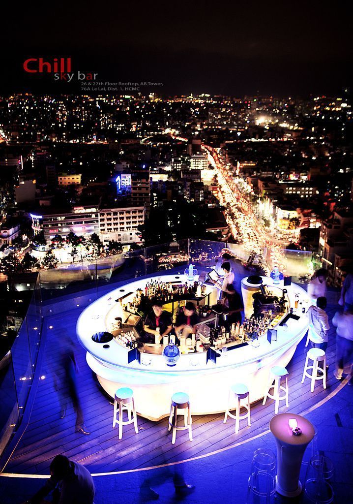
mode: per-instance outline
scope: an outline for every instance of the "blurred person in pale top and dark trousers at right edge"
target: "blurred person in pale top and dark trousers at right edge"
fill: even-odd
[[[345,371],[350,376],[348,385],[353,385],[353,310],[337,311],[332,319],[336,329],[336,370],[334,375],[341,380]]]

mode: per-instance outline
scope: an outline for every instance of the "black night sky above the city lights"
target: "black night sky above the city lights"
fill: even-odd
[[[79,91],[77,82],[58,85],[52,76],[26,74],[24,59],[39,56],[71,56],[75,72],[97,72],[100,81],[163,82],[153,90],[164,94],[307,96],[351,87],[343,2],[189,4],[18,5],[16,15],[3,19],[0,92]]]

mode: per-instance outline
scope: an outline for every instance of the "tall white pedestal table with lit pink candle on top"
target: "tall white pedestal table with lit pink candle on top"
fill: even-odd
[[[302,430],[299,436],[292,432],[289,419],[297,420]],[[269,428],[277,445],[276,491],[286,497],[296,497],[302,491],[300,467],[306,447],[314,437],[314,427],[306,418],[294,413],[280,413],[271,418]]]

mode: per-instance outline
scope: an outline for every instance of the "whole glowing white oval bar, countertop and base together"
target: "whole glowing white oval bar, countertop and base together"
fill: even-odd
[[[271,320],[271,331],[266,329],[262,336],[253,341],[242,341],[236,337],[235,341],[228,340],[225,345],[224,340],[222,342],[222,339],[218,339],[216,344],[226,346],[227,351],[218,350],[217,346],[216,351],[208,352],[194,352],[191,348],[182,347],[180,358],[171,367],[167,365],[162,354],[163,345],[140,344],[139,349],[130,350],[126,347],[126,341],[131,338],[138,339],[138,331],[135,327],[125,326],[124,331],[128,334],[125,340],[121,341],[121,330],[116,326],[119,324],[116,319],[123,319],[124,322],[124,319],[132,317],[135,323],[136,315],[127,314],[126,317],[126,303],[132,300],[138,289],[145,291],[146,283],[156,281],[157,278],[160,282],[179,285],[179,288],[180,284],[185,282],[184,275],[163,275],[135,280],[100,297],[79,317],[78,338],[87,350],[88,365],[97,374],[103,389],[114,397],[119,387],[131,387],[137,413],[154,421],[169,414],[170,398],[175,392],[182,391],[189,395],[192,414],[225,411],[229,387],[238,382],[248,386],[251,402],[263,397],[270,368],[274,365],[286,366],[306,333],[308,325],[304,311],[309,302],[306,291],[296,284],[284,287],[283,281],[274,285],[271,278],[261,277],[260,282],[267,286],[266,297],[260,292],[259,285],[249,283],[248,277],[243,279],[245,311],[249,311],[249,303],[252,302],[249,296],[252,299],[254,293],[257,293],[255,297],[257,296],[258,312],[267,312],[267,316],[271,313],[268,307],[272,305],[267,303],[266,306],[266,299],[269,303],[276,299],[286,301],[286,309],[277,314],[272,312],[272,318],[268,319]],[[237,286],[236,288],[240,290]],[[286,290],[283,294],[284,289]],[[217,295],[218,290],[213,285],[204,285],[202,296],[198,296],[197,303],[216,303]],[[165,309],[170,309],[170,306],[169,303]],[[201,322],[204,324],[208,321],[209,326],[215,327],[215,317],[215,314],[214,317],[208,316],[205,320],[201,319]],[[202,326],[198,329],[200,339],[207,342]],[[93,335],[102,333],[106,334],[101,342],[92,339]],[[97,339],[97,336],[94,339]]]

